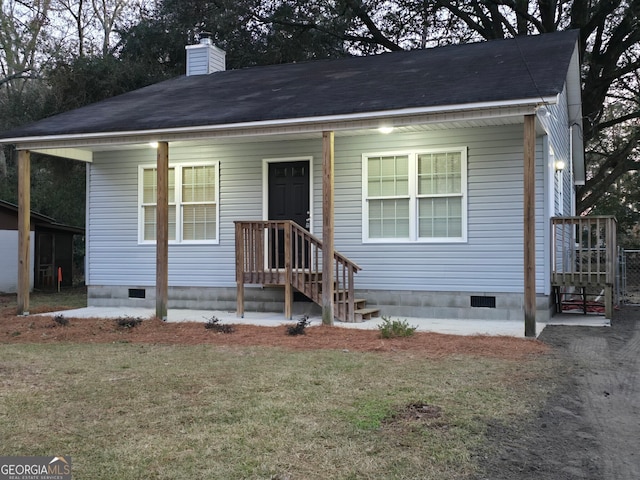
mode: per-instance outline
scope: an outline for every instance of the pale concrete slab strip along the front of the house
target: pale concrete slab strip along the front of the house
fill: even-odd
[[[155,314],[152,308],[133,307],[85,307],[75,310],[65,310],[62,312],[47,313],[43,315],[62,315],[67,318],[151,318]],[[261,325],[267,327],[278,327],[285,324],[295,323],[300,316],[296,315],[293,320],[287,320],[281,313],[245,312],[244,318],[236,316],[235,312],[219,310],[183,310],[170,309],[168,312],[169,322],[206,322],[212,317],[216,317],[225,324],[247,324]],[[516,320],[457,320],[457,319],[433,319],[414,317],[391,317],[391,320],[407,321],[410,326],[417,327],[418,331],[446,333],[451,335],[506,335],[510,337],[524,337],[524,322]],[[310,317],[311,325],[320,325],[320,317]],[[345,328],[377,329],[382,323],[382,318],[366,320],[362,323],[335,324]],[[551,319],[550,322],[538,322],[536,333],[540,335],[546,325],[573,325],[573,326],[610,326],[609,320],[599,315],[574,315],[562,314]]]

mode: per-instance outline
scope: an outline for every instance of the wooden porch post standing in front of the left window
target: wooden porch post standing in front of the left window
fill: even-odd
[[[169,144],[158,142],[156,198],[156,317],[167,320],[169,298]]]

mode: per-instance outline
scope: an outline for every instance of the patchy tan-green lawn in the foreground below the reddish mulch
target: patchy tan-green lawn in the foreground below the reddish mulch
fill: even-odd
[[[549,362],[2,345],[0,455],[71,455],[78,479],[465,478],[486,425],[544,399]],[[441,416],[394,420],[416,402]]]

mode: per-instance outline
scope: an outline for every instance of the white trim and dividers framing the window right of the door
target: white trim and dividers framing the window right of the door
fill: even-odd
[[[458,195],[419,195],[418,194],[418,157],[434,153],[460,153],[460,183],[462,198],[462,235],[460,237],[418,237],[418,201],[421,198],[454,197]],[[409,162],[409,237],[404,238],[370,238],[369,237],[369,162],[371,157],[406,156]],[[362,154],[362,243],[466,243],[468,230],[468,172],[467,147],[445,147],[428,149],[410,149],[393,151],[376,151]],[[402,197],[405,197],[404,195]],[[375,197],[383,198],[383,197]],[[392,197],[387,197],[392,198]],[[400,198],[396,196],[395,198]]]

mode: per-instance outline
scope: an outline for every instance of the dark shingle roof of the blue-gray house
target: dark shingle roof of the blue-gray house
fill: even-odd
[[[144,131],[508,102],[562,91],[575,31],[182,76],[0,134]]]

